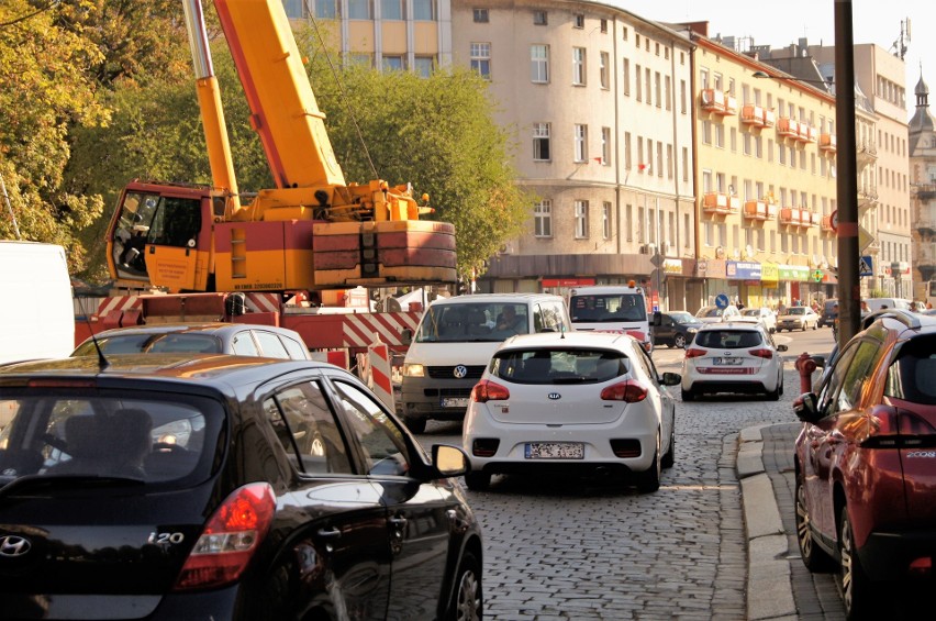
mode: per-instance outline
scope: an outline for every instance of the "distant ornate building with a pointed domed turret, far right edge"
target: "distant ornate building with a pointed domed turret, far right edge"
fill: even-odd
[[[936,302],[936,120],[929,112],[929,87],[922,75],[914,93],[916,111],[910,120],[913,297]]]

